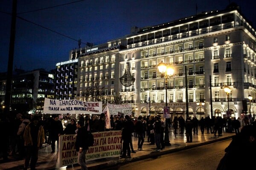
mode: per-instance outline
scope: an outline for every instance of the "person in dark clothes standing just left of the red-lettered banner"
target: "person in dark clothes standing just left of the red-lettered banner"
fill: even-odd
[[[58,143],[59,143],[59,136],[63,134],[63,126],[60,120],[58,120],[58,115],[53,115],[52,116],[53,120],[51,121],[50,124],[50,131],[49,135],[52,141],[51,147],[52,147],[52,152],[55,152],[55,142],[57,141],[57,149],[58,149]]]

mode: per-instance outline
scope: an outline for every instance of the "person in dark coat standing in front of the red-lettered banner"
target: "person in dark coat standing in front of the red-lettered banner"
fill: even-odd
[[[76,151],[78,152],[78,164],[81,166],[81,170],[88,170],[86,163],[85,163],[85,154],[88,150],[88,137],[89,132],[84,127],[84,122],[78,121],[76,124],[78,129],[77,136],[76,136]]]

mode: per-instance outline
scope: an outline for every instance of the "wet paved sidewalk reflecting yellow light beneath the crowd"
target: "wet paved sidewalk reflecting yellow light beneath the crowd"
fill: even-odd
[[[120,159],[119,157],[112,157],[106,159],[97,159],[93,161],[87,161],[87,167],[90,170],[99,170],[101,167],[110,167],[114,164],[122,164],[124,162],[138,161],[150,157],[155,157],[167,153],[177,152],[179,150],[185,150],[192,147],[198,147],[204,144],[209,144],[213,142],[218,142],[220,140],[231,138],[235,135],[235,133],[222,133],[222,136],[214,136],[214,134],[201,135],[201,132],[198,131],[198,135],[193,136],[192,143],[186,143],[186,136],[183,134],[174,135],[173,130],[169,129],[169,140],[171,146],[166,146],[164,150],[154,151],[156,148],[155,145],[149,145],[147,142],[147,136],[145,137],[145,142],[143,144],[143,150],[137,150],[137,141],[138,138],[132,136],[133,147],[136,153],[131,153],[131,159]],[[58,153],[51,153],[51,146],[48,144],[44,144],[43,148],[39,150],[38,162],[37,162],[37,170],[79,170],[78,167],[61,167],[58,168]],[[9,161],[6,163],[0,164],[0,170],[22,170],[23,169],[24,160],[18,161]]]

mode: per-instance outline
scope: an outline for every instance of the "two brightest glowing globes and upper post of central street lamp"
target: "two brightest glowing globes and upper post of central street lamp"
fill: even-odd
[[[172,75],[174,74],[174,69],[170,66],[161,61],[157,68],[161,74],[165,75],[165,88],[166,88],[166,107],[167,107],[167,79],[170,79]]]

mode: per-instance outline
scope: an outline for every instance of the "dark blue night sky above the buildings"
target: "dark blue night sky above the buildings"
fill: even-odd
[[[17,16],[30,22],[17,18],[13,68],[50,71],[69,59],[70,50],[78,48],[76,40],[81,39],[81,47],[86,42],[97,45],[130,34],[133,26],[195,15],[196,4],[201,13],[223,10],[230,2],[256,28],[255,0],[17,0]],[[7,71],[11,13],[12,0],[0,0],[0,72]]]

